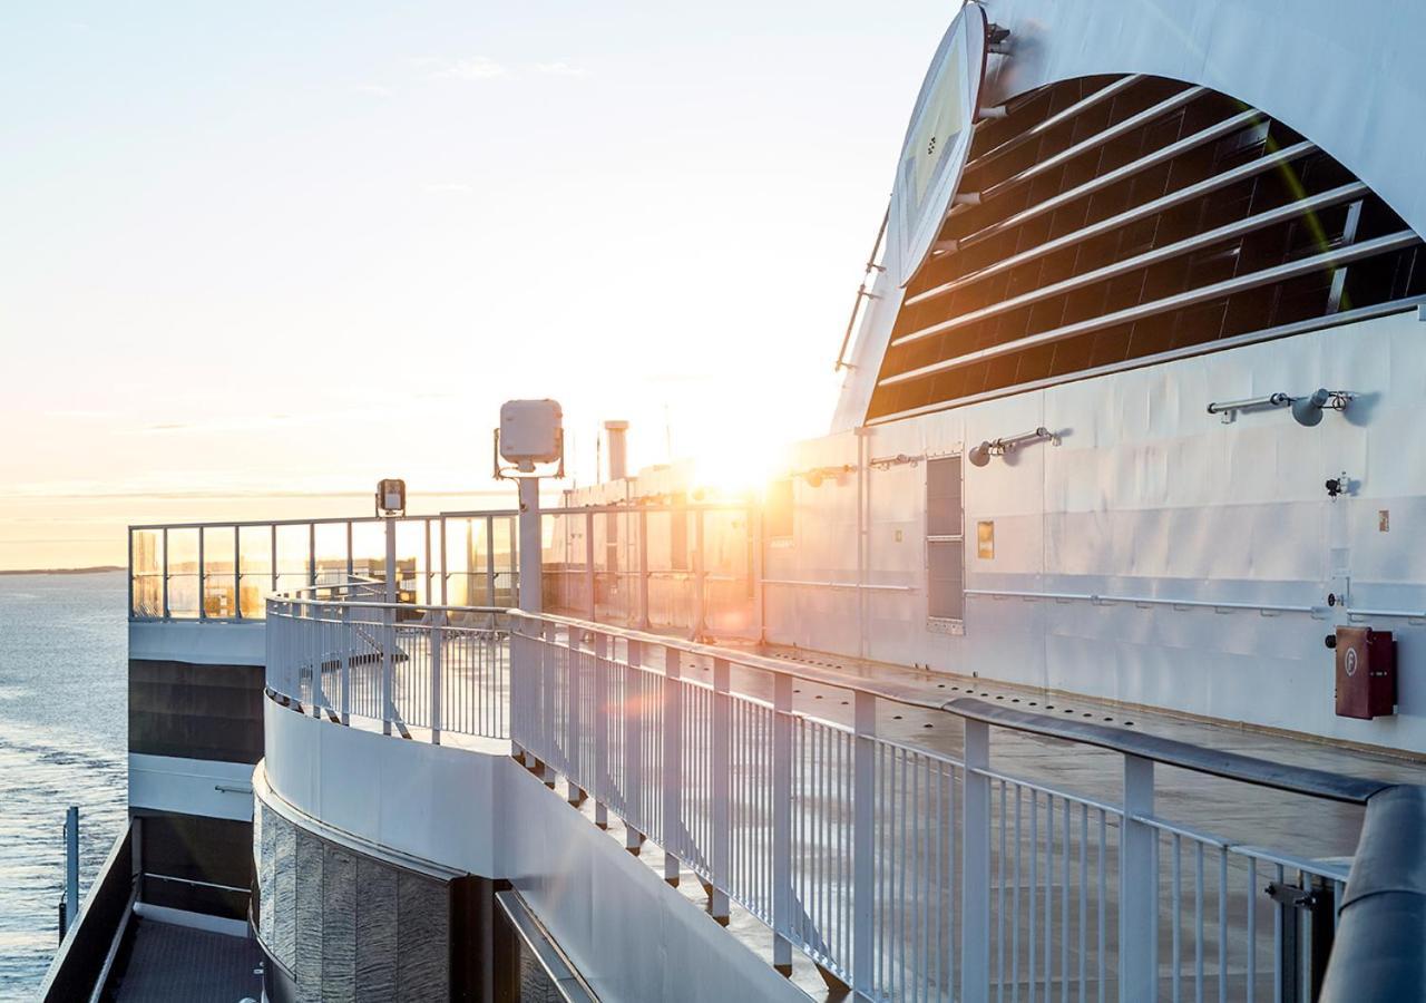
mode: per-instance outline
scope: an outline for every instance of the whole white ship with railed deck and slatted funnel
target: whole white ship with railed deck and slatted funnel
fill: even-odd
[[[133,526],[44,999],[1426,999],[1423,30],[960,7],[753,495]]]

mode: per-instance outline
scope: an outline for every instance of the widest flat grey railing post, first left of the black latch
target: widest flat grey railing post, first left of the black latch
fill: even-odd
[[[1151,826],[1137,816],[1154,813],[1154,760],[1124,756],[1124,826],[1119,829],[1119,1000],[1155,999],[1158,973],[1149,966],[1158,875]],[[1178,903],[1174,906],[1178,907]]]

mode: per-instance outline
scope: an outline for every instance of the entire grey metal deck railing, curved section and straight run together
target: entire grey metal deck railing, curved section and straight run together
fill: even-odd
[[[1385,822],[1366,873],[1346,865],[1360,808],[1390,802],[1399,823],[1415,792],[1426,815],[1415,788],[586,621],[351,598],[364,588],[270,601],[275,699],[436,742],[509,735],[630,849],[665,847],[667,877],[696,873],[714,916],[736,902],[766,923],[779,966],[797,949],[861,999],[1306,1003],[1329,957],[1366,963],[1362,927],[1392,922],[1380,895],[1417,923],[1426,903],[1426,819],[1400,872]],[[960,748],[908,736],[907,708],[957,722]],[[1261,845],[1273,825],[1281,845]],[[1405,969],[1392,999],[1419,999]]]

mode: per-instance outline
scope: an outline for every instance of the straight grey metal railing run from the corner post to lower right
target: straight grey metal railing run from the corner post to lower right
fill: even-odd
[[[779,964],[797,947],[864,999],[1316,999],[1353,809],[1333,816],[1339,845],[1256,846],[1196,822],[1268,812],[1268,793],[1323,818],[1389,788],[512,615],[516,748],[622,818],[632,846],[666,847],[667,876],[697,873],[714,915],[732,900],[767,923]],[[797,706],[809,682],[848,709]],[[883,733],[886,701],[960,718],[961,753]],[[1062,755],[1047,778],[992,760],[992,736],[1015,762],[1027,733]],[[1061,782],[1095,756],[1111,783]],[[1156,763],[1209,782],[1209,810],[1186,810],[1182,780],[1184,808],[1156,808]]]

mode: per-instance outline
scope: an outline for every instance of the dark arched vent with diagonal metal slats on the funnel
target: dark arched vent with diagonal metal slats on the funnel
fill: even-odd
[[[870,421],[1426,295],[1420,238],[1350,171],[1172,80],[1018,100],[977,128],[961,191],[980,198],[907,290]]]

